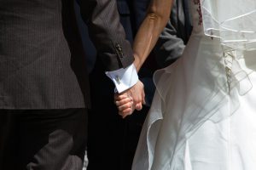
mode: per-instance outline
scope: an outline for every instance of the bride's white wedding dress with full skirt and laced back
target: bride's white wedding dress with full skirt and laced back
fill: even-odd
[[[132,169],[256,170],[256,51],[205,36],[200,3],[190,2],[193,33],[183,56],[154,74]]]

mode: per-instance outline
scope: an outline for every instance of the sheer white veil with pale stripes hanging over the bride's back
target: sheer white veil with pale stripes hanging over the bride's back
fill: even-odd
[[[201,0],[205,34],[233,49],[256,49],[255,0]]]

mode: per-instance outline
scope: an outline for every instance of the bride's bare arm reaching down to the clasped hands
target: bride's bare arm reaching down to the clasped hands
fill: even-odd
[[[135,56],[134,64],[137,71],[143,65],[148,54],[154,48],[160,36],[160,32],[165,28],[170,18],[173,0],[152,0],[149,5],[146,18],[140,26],[133,44]]]

